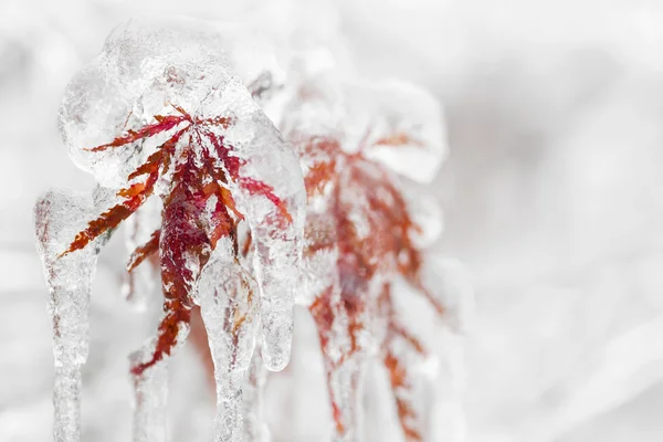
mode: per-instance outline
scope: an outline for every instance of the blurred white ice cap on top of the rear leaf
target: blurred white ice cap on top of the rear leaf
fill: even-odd
[[[396,80],[343,81],[334,71],[294,77],[299,83],[290,86],[280,123],[285,134],[332,137],[345,152],[361,151],[413,181],[434,178],[448,141],[442,108],[430,92]]]

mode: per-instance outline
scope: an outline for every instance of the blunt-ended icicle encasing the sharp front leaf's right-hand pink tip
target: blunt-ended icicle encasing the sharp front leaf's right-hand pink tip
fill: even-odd
[[[263,359],[270,370],[278,371],[290,360],[306,191],[297,157],[290,145],[256,106],[243,110],[236,124],[228,128],[225,141],[240,146],[238,151],[246,158],[233,197],[246,217],[253,239],[253,271],[261,294]],[[246,134],[253,136],[246,140]],[[272,198],[260,194],[254,186],[256,177],[273,189]],[[280,203],[275,204],[275,200]],[[285,214],[284,208],[287,209]]]

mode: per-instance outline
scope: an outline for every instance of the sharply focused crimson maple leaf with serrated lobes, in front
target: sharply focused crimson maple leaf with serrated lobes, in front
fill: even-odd
[[[138,181],[117,191],[120,202],[91,221],[63,253],[83,249],[99,235],[117,228],[154,193],[159,178],[173,168],[168,190],[160,194],[164,206],[161,228],[152,233],[147,243],[134,251],[127,264],[127,270],[131,272],[147,257],[159,252],[165,297],[165,314],[158,327],[155,350],[148,360],[131,368],[135,375],[140,375],[172,351],[180,329],[191,320],[191,293],[196,281],[219,241],[230,239],[235,257],[239,254],[238,224],[244,215],[238,210],[230,192],[231,181],[250,194],[259,194],[271,201],[281,214],[280,222],[293,221],[285,202],[271,186],[240,175],[245,160],[234,155],[224,137],[217,134],[234,124],[231,117],[192,117],[180,106],[172,107],[176,115],[156,115],[155,123],[128,130],[108,144],[86,149],[101,152],[129,147],[156,135],[170,133],[167,140],[128,175],[129,181]],[[208,211],[210,202],[211,213]],[[238,327],[243,320],[236,319]]]

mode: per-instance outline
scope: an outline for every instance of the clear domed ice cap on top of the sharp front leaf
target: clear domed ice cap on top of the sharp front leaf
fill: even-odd
[[[65,90],[60,130],[71,158],[101,185],[125,186],[156,146],[88,149],[148,123],[171,101],[193,112],[229,82],[222,54],[219,35],[203,23],[141,18],[115,28]]]

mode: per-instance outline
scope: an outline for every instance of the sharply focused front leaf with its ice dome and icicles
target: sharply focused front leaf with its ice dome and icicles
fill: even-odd
[[[135,439],[164,440],[164,364],[198,304],[214,361],[217,440],[241,440],[241,385],[259,324],[265,366],[280,370],[290,358],[306,203],[296,156],[231,72],[221,38],[198,23],[115,29],[69,84],[60,127],[72,159],[109,191],[85,204],[50,193],[35,211],[53,299],[55,440],[80,435],[96,251],[150,198],[160,200],[160,227],[127,269],[158,254],[164,317],[131,357]],[[241,260],[242,229],[251,262]]]

